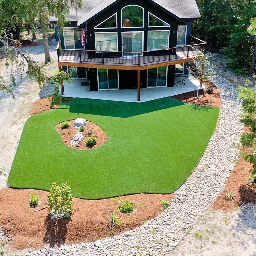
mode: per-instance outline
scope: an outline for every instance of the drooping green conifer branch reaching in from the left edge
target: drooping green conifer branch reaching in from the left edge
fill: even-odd
[[[8,44],[8,41],[12,43],[12,45]],[[10,93],[14,99],[14,93],[12,88],[16,87],[16,76],[17,73],[20,78],[23,78],[23,72],[25,72],[26,76],[30,78],[34,78],[39,85],[40,89],[45,88],[46,82],[51,82],[55,80],[55,94],[59,95],[59,81],[72,81],[72,76],[69,72],[62,71],[54,76],[49,76],[43,68],[35,61],[33,58],[29,56],[27,52],[22,52],[20,49],[16,47],[21,46],[20,42],[12,39],[12,35],[7,35],[5,30],[0,30],[0,44],[3,46],[0,48],[0,52],[4,54],[5,66],[8,68],[11,67],[11,85],[7,85],[4,81],[4,77],[0,75],[0,91],[6,91]],[[60,96],[59,96],[60,101]]]

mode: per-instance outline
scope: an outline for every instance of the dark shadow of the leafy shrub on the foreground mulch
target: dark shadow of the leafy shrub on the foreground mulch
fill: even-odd
[[[44,226],[46,226],[45,236],[43,241],[45,244],[52,246],[60,246],[66,241],[68,223],[72,221],[71,218],[54,218],[48,214],[44,219]]]

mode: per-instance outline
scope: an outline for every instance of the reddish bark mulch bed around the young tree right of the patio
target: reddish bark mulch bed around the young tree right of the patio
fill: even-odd
[[[194,105],[201,105],[201,106],[208,106],[208,107],[220,107],[221,106],[221,99],[220,93],[216,86],[212,84],[212,82],[204,82],[204,85],[212,85],[213,87],[213,94],[206,94],[203,93],[203,90],[199,90],[199,97],[196,98],[197,91],[193,92],[186,92],[178,95],[172,96],[172,98],[176,100],[181,100],[183,102],[187,102]]]

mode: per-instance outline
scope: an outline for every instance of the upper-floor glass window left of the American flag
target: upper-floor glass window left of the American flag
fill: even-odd
[[[84,49],[81,43],[83,28],[63,28],[65,49]]]

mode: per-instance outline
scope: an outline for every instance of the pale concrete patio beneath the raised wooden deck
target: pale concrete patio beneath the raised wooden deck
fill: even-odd
[[[173,96],[185,92],[192,92],[197,90],[199,81],[187,75],[176,76],[175,84],[173,87],[152,87],[140,89],[140,101],[149,101],[164,98],[167,96]],[[183,83],[181,82],[186,78]],[[127,102],[137,101],[137,89],[126,90],[109,90],[109,91],[93,91],[90,92],[89,86],[81,86],[82,82],[89,82],[89,79],[73,79],[71,84],[64,81],[64,95],[65,97],[73,98],[88,98],[98,100],[117,100]],[[204,87],[204,86],[203,86]]]

